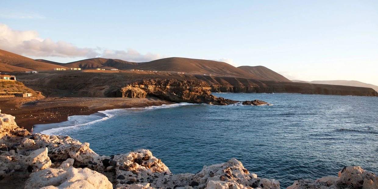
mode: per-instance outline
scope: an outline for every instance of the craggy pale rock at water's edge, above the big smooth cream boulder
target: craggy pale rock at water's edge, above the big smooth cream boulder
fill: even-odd
[[[89,148],[89,143],[83,144],[64,144],[53,150],[51,156],[54,160],[67,160],[73,158],[75,162],[87,164],[99,155]]]

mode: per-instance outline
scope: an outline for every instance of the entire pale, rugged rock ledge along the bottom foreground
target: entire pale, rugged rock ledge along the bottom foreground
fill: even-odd
[[[243,164],[204,166],[196,174],[174,175],[149,150],[100,156],[69,136],[30,134],[11,115],[0,113],[0,183],[26,189],[279,189],[279,181],[259,178]],[[339,177],[300,180],[288,189],[378,188],[378,177],[345,167]]]

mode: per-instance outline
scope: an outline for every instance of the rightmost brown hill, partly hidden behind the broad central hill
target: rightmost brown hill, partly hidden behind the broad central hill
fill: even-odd
[[[265,80],[291,82],[289,79],[283,77],[281,74],[263,66],[239,66],[238,68],[248,73],[259,76]]]

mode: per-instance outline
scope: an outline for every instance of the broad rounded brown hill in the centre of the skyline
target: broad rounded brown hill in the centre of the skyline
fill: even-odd
[[[216,76],[234,76],[262,79],[261,77],[240,70],[239,68],[233,67],[232,65],[229,65],[225,62],[180,57],[164,58],[153,60],[151,62],[139,63],[139,65],[133,67],[133,69],[151,71],[175,71],[190,74],[212,74]]]

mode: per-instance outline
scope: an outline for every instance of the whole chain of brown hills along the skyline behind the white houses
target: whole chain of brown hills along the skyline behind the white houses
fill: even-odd
[[[59,63],[43,59],[33,60],[0,50],[0,71],[54,70],[54,68],[172,71],[187,74],[211,74],[214,76],[291,82],[289,79],[263,66],[242,66],[237,68],[225,62],[214,60],[170,57],[138,63],[119,59],[92,58],[70,63]]]

